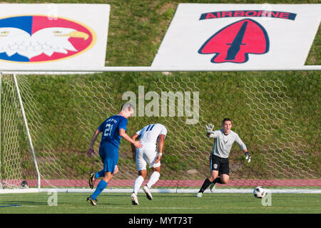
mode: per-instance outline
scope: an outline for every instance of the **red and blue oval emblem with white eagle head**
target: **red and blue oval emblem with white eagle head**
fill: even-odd
[[[0,19],[0,60],[41,63],[70,58],[90,49],[96,34],[66,18],[11,16]]]

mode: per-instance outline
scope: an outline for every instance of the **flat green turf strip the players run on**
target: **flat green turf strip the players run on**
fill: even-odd
[[[58,193],[57,206],[49,206],[52,194],[2,194],[0,214],[319,214],[320,194],[271,194],[270,206],[253,194],[153,194],[153,200],[138,194],[139,205],[131,204],[131,194],[103,193],[98,205],[86,202],[85,193]]]

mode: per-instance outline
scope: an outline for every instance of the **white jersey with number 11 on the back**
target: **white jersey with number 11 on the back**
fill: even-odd
[[[155,152],[159,135],[164,134],[166,136],[167,129],[163,124],[149,124],[136,132],[136,134],[138,134],[141,144],[143,144],[141,149],[148,149]]]

